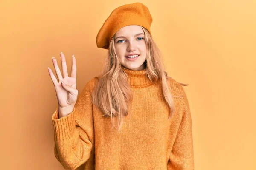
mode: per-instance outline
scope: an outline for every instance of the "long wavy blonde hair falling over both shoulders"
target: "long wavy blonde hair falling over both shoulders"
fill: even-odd
[[[156,82],[158,79],[161,80],[163,96],[171,110],[168,118],[169,120],[174,112],[174,105],[166,81],[166,77],[168,76],[167,72],[164,71],[165,68],[163,65],[162,54],[147,29],[143,27],[141,28],[144,31],[147,46],[145,74],[147,74],[151,82]],[[119,131],[122,126],[123,119],[128,114],[129,103],[132,101],[133,96],[130,86],[128,85],[128,76],[122,70],[122,65],[120,64],[115,52],[115,35],[116,34],[114,34],[111,39],[108,55],[105,58],[103,65],[103,71],[98,77],[99,82],[93,91],[93,103],[102,111],[102,116],[111,117],[112,126],[114,126],[113,116],[118,117],[117,128]],[[180,83],[180,85],[187,84]]]

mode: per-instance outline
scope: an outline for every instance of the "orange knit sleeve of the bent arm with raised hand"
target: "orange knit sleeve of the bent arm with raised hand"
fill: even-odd
[[[94,129],[90,81],[79,95],[74,110],[59,118],[52,115],[54,155],[66,170],[75,170],[93,159]]]

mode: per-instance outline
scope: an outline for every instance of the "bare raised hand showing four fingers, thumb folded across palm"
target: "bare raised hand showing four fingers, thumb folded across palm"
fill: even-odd
[[[71,66],[71,76],[68,77],[67,73],[67,64],[65,60],[64,54],[61,52],[61,68],[63,77],[61,75],[61,71],[58,67],[57,60],[52,57],[53,66],[56,71],[56,75],[58,80],[55,78],[52,70],[48,67],[49,75],[52,79],[53,85],[55,87],[58,105],[59,105],[59,115],[67,116],[74,109],[76,104],[78,90],[76,89],[76,58],[72,56],[72,66]]]

